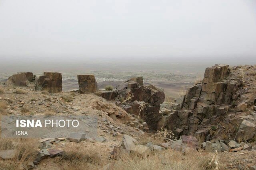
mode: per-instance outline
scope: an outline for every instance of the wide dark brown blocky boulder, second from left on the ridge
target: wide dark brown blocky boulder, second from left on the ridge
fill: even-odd
[[[44,72],[34,80],[36,90],[45,90],[49,93],[62,92],[62,74],[58,72]]]

